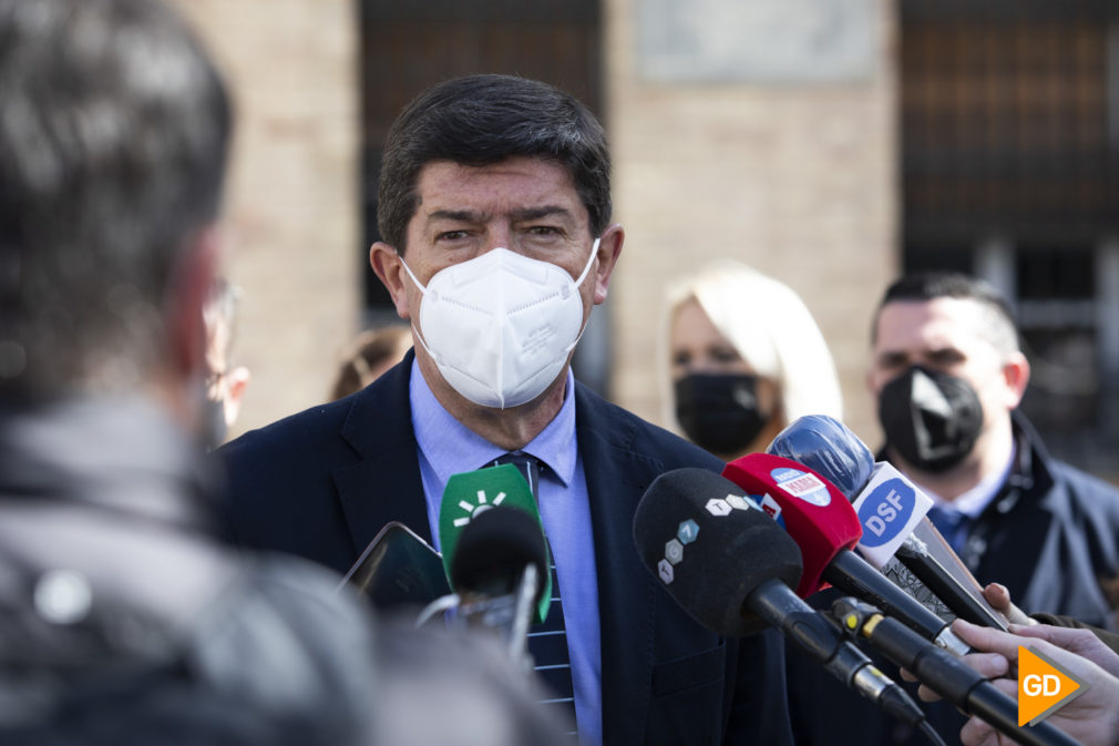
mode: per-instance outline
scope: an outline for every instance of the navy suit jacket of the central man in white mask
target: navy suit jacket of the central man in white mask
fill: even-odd
[[[248,432],[222,449],[242,544],[346,571],[401,521],[431,541],[408,403],[412,354],[364,391]],[[575,384],[602,635],[603,742],[788,744],[782,641],[725,640],[641,566],[632,519],[659,474],[722,461]],[[473,468],[464,466],[463,470]]]

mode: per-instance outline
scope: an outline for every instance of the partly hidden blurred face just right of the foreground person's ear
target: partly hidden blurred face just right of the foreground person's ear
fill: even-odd
[[[203,309],[206,321],[206,411],[203,441],[220,446],[237,421],[241,400],[252,375],[244,365],[234,365],[233,341],[237,330],[241,290],[224,277],[215,278]]]

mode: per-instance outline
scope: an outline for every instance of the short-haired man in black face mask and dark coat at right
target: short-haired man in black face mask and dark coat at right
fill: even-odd
[[[930,517],[979,582],[1003,584],[1042,618],[1113,630],[1102,585],[1119,568],[1119,491],[1052,458],[1017,411],[1029,363],[1006,300],[965,274],[904,277],[884,293],[871,343],[866,380],[885,436],[877,458],[933,498]],[[799,744],[928,743],[794,663],[789,681],[794,721],[811,712]],[[966,718],[943,701],[923,708],[958,744]]]

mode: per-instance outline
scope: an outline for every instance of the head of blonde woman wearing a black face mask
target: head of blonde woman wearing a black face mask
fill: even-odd
[[[798,417],[841,417],[831,354],[783,283],[717,261],[673,285],[667,307],[666,399],[693,442],[731,459],[764,450]]]

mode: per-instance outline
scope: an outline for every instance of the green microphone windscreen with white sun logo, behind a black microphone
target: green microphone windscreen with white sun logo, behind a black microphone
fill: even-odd
[[[439,547],[443,552],[443,569],[451,581],[452,590],[458,590],[451,566],[454,563],[459,537],[471,521],[495,506],[511,507],[527,513],[540,532],[540,540],[545,541],[544,524],[540,522],[536,498],[533,497],[532,488],[516,466],[502,464],[452,475],[446,481],[443,501],[439,506]],[[545,553],[548,561],[544,566],[542,578],[544,595],[536,605],[537,623],[547,618],[548,606],[552,604],[552,574],[548,571],[552,556],[546,549],[546,543]]]

